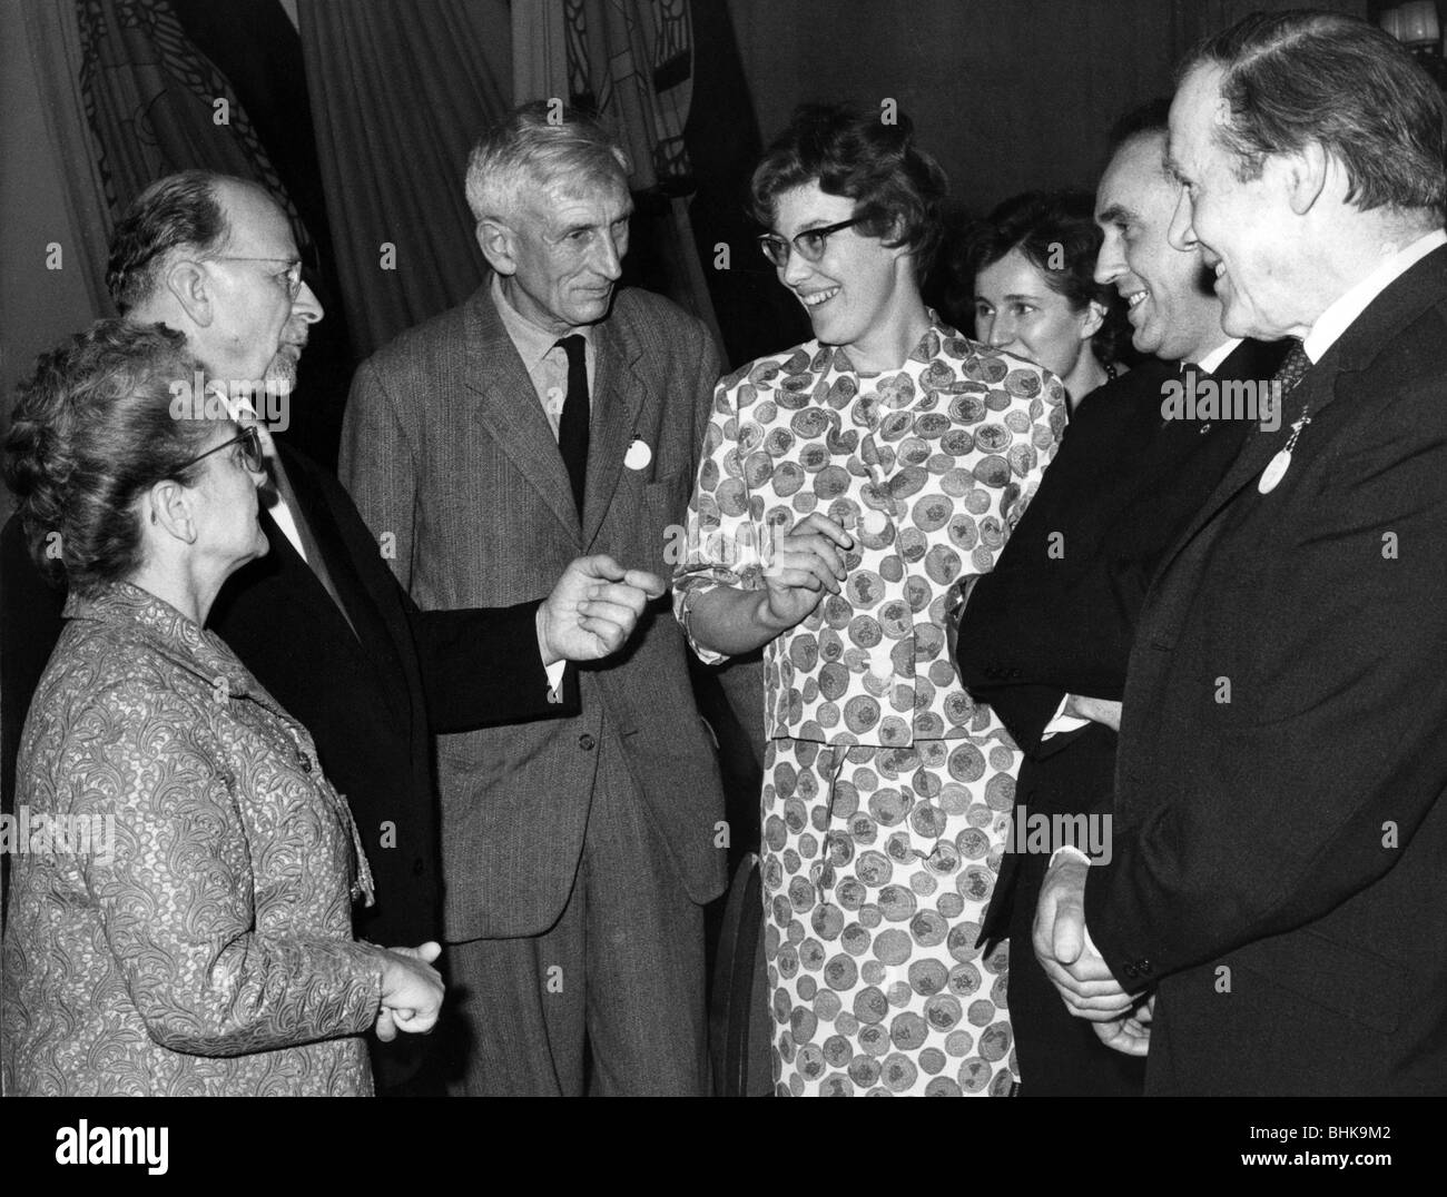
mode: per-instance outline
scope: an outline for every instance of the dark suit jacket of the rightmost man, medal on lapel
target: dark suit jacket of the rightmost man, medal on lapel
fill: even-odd
[[[1286,426],[1166,554],[1130,656],[1085,911],[1158,986],[1147,1091],[1447,1091],[1447,249],[1302,402],[1282,481]]]

